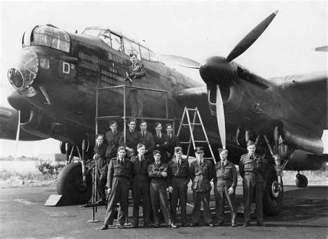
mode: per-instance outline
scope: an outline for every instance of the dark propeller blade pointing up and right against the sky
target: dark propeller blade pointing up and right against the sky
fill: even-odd
[[[226,57],[228,62],[231,62],[239,55],[242,55],[244,51],[246,51],[260,35],[264,32],[264,30],[271,24],[271,21],[275,18],[278,11],[273,12],[271,15],[266,17],[260,24],[255,26],[253,30],[251,30],[236,46],[233,48],[233,51]]]

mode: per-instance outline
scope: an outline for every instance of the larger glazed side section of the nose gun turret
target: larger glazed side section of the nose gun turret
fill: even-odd
[[[24,44],[26,45],[26,42]],[[69,52],[71,38],[63,30],[50,26],[39,26],[33,31],[33,44]]]

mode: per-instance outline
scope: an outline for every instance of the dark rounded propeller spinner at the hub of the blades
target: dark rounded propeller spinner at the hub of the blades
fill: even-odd
[[[199,73],[206,84],[221,85],[232,79],[233,64],[224,57],[209,57],[199,67]]]

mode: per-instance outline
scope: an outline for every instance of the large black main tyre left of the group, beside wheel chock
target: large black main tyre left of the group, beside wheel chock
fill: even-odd
[[[86,186],[82,182],[82,164],[69,163],[57,177],[57,193],[63,195],[68,204],[85,204],[92,195],[91,174],[86,175]]]

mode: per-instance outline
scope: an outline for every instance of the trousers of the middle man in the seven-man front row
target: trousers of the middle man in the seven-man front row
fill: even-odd
[[[188,183],[185,177],[176,177],[172,179],[171,184],[173,192],[171,194],[171,213],[173,222],[176,223],[176,209],[178,206],[181,208],[181,222],[184,224],[187,222],[187,191]]]

